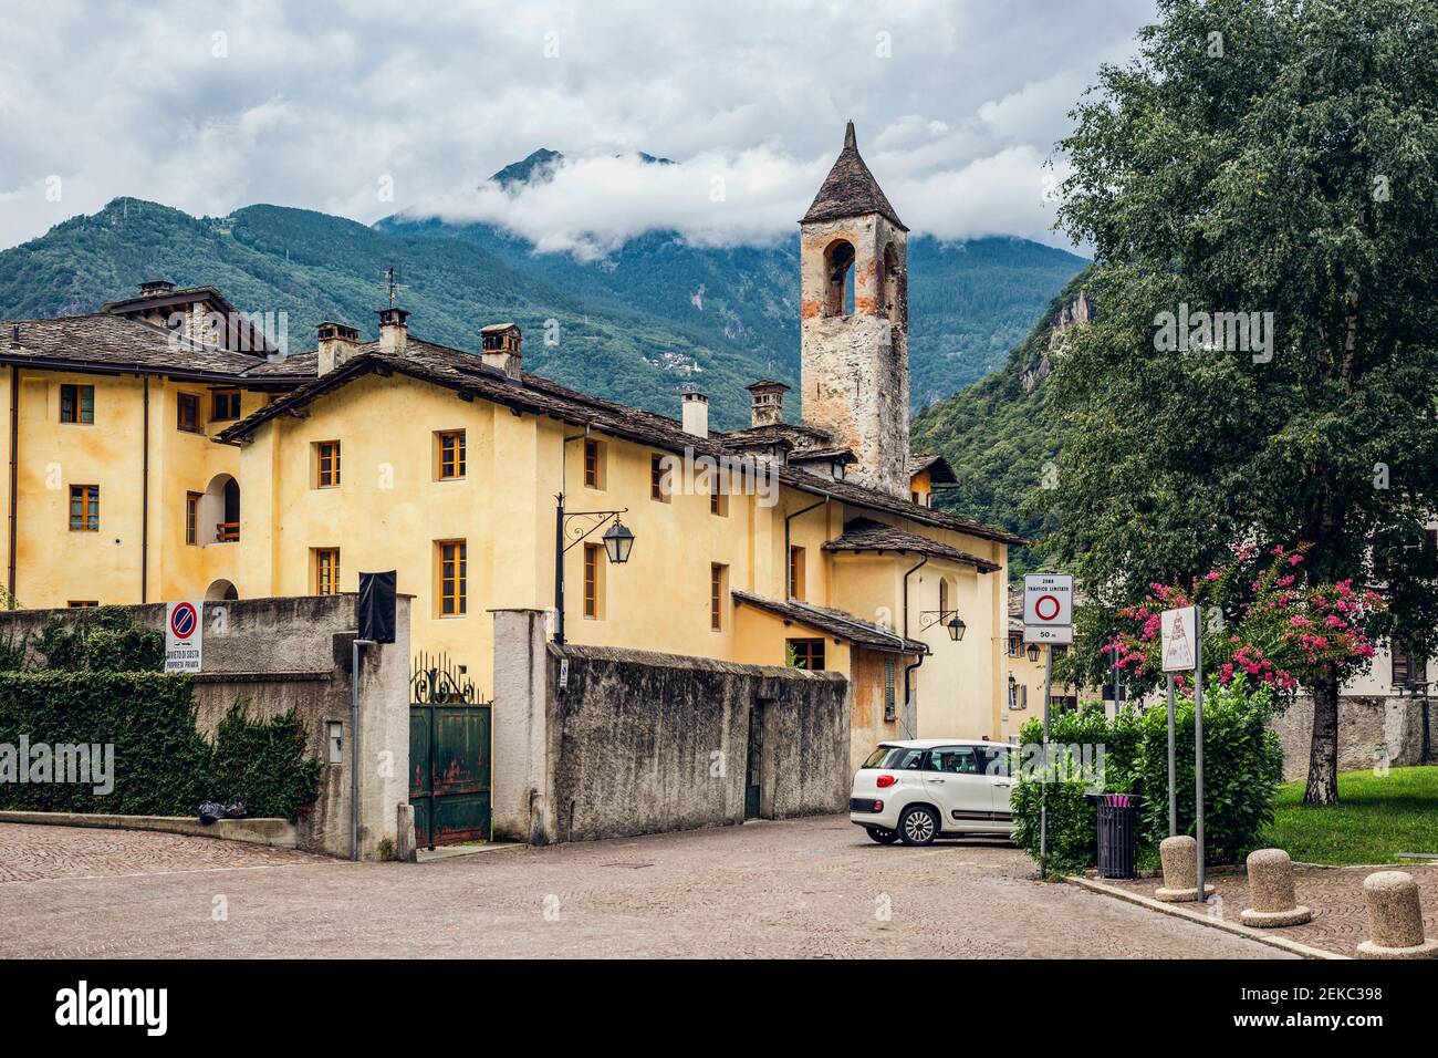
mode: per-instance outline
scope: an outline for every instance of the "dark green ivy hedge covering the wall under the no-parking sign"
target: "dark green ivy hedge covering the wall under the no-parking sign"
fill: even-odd
[[[0,782],[0,809],[191,816],[201,800],[240,797],[250,815],[293,820],[319,783],[293,713],[252,721],[236,705],[210,743],[196,730],[190,678],[178,674],[0,672],[0,747],[19,747],[22,736],[32,746],[112,744],[114,790]]]

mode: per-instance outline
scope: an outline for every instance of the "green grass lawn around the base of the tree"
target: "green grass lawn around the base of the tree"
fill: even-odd
[[[1393,864],[1398,852],[1438,852],[1438,767],[1339,774],[1339,803],[1303,803],[1284,783],[1263,844],[1310,864]],[[1414,862],[1414,861],[1409,861]]]

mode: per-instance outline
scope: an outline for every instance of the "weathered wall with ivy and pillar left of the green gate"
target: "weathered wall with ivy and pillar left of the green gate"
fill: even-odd
[[[196,727],[213,734],[243,702],[250,717],[295,710],[305,751],[321,761],[319,795],[298,820],[299,848],[349,855],[351,646],[357,596],[298,596],[204,603],[204,656],[194,675]],[[164,603],[128,606],[135,623],[164,629]],[[47,620],[78,610],[0,612],[0,638],[33,639]],[[360,665],[360,851],[394,844],[397,808],[408,802],[410,599],[397,600],[395,642],[365,648]],[[341,760],[329,761],[329,723],[342,725]],[[219,793],[217,796],[227,796]]]

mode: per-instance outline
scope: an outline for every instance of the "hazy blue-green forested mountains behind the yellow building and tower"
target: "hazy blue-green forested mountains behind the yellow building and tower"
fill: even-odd
[[[674,164],[647,158],[653,164]],[[541,150],[492,180],[546,178]],[[1017,238],[909,242],[910,396],[928,407],[985,376],[1086,261]],[[715,425],[748,423],[743,386],[798,376],[798,236],[769,246],[696,246],[650,232],[601,261],[536,253],[485,223],[395,214],[372,226],[312,210],[247,206],[196,217],[116,199],[0,252],[0,318],[92,312],[164,278],[219,288],[242,311],[285,312],[290,351],[321,320],[377,331],[384,271],[414,333],[477,350],[479,327],[512,320],[525,366],[559,383],[666,415],[686,387]]]

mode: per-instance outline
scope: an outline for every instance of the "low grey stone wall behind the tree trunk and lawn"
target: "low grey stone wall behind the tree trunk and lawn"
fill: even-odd
[[[1438,702],[1426,710],[1429,757],[1424,761],[1422,698],[1392,695],[1343,695],[1339,698],[1339,770],[1356,772],[1431,763],[1438,751]],[[1270,727],[1283,743],[1283,777],[1296,782],[1309,777],[1309,751],[1313,738],[1313,698],[1303,695],[1276,717]]]

